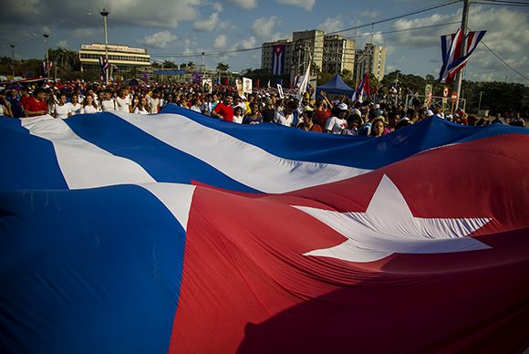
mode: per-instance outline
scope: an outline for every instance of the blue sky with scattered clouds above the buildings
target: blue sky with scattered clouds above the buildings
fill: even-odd
[[[152,60],[201,64],[202,52],[261,47],[264,42],[291,39],[293,31],[339,33],[357,47],[373,40],[386,46],[386,72],[434,77],[441,68],[440,36],[455,32],[462,19],[462,2],[371,26],[372,22],[442,5],[442,0],[17,0],[3,6],[0,55],[16,59],[44,57],[42,34],[50,47],[79,50],[81,44],[104,43],[103,18],[109,11],[109,44],[145,47]],[[529,4],[529,1],[527,1]],[[430,26],[429,28],[419,28]],[[529,6],[472,4],[469,28],[487,30],[483,42],[503,58],[508,68],[480,45],[469,60],[465,78],[529,85]],[[390,33],[392,32],[392,33]],[[186,57],[190,56],[190,57]],[[205,57],[207,67],[227,63],[231,70],[260,68],[261,50]]]

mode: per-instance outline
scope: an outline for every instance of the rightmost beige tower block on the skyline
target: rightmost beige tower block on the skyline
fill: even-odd
[[[386,47],[367,43],[363,50],[357,52],[354,67],[357,84],[367,72],[373,74],[379,81],[382,80],[386,68]]]

